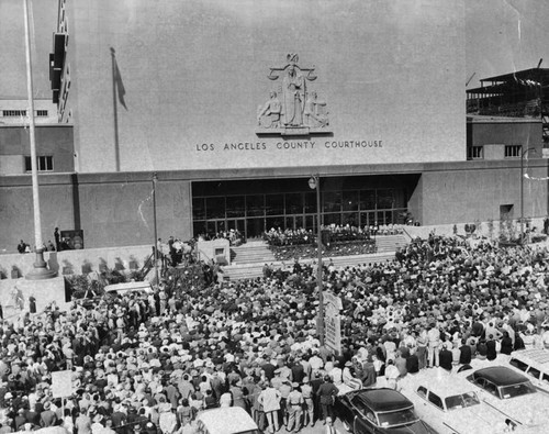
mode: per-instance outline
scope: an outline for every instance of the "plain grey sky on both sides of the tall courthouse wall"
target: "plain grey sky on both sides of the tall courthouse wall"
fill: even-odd
[[[29,1],[35,33],[31,51],[34,93],[36,98],[49,98],[47,59],[58,0]],[[26,98],[23,4],[23,0],[0,0],[2,99]],[[464,4],[467,76],[463,82],[469,81],[468,88],[480,86],[481,78],[534,68],[540,58],[544,59],[541,67],[549,68],[549,1],[464,0]]]

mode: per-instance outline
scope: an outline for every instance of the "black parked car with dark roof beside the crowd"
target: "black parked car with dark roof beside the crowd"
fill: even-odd
[[[436,433],[419,420],[414,404],[393,389],[361,389],[338,396],[335,410],[344,427],[355,434]]]

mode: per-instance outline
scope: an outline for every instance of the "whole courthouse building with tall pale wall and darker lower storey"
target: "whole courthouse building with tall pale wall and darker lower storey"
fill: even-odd
[[[152,243],[155,173],[165,237],[314,229],[313,175],[325,224],[518,218],[525,162],[525,215],[544,216],[541,123],[492,142],[504,121],[467,120],[464,25],[463,0],[59,0],[52,98],[74,171],[40,177],[43,233]],[[14,247],[30,177],[0,177],[0,199]]]

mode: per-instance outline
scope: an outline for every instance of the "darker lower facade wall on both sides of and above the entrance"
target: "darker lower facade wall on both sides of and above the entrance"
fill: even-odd
[[[423,225],[500,219],[500,205],[520,213],[520,162],[461,162],[413,165],[302,166],[279,169],[193,170],[158,173],[156,188],[158,237],[192,236],[192,183],[223,180],[303,178],[345,180],[372,176],[376,182],[391,175],[411,180],[408,209]],[[524,179],[524,214],[548,214],[548,160],[529,159]],[[153,176],[149,173],[42,175],[40,193],[42,235],[53,238],[57,226],[83,230],[86,248],[153,245]],[[256,182],[257,183],[257,182]],[[260,183],[260,182],[259,182]],[[329,185],[330,182],[326,182]],[[34,227],[30,177],[0,177],[0,252],[16,252],[21,238],[33,244]]]

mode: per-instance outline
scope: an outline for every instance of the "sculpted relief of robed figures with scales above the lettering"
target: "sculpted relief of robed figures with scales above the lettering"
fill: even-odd
[[[316,79],[314,67],[300,67],[296,54],[289,54],[287,60],[283,67],[270,68],[267,76],[277,81],[278,87],[270,91],[269,100],[258,108],[257,133],[329,133],[326,101],[309,85]]]

